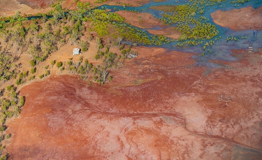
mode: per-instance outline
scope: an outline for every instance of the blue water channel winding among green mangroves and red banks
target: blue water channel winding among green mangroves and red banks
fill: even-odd
[[[207,62],[208,60],[212,59],[219,59],[219,60],[223,60],[223,61],[235,61],[237,60],[237,58],[232,57],[231,51],[230,49],[247,49],[249,46],[253,46],[254,50],[256,50],[256,48],[261,48],[262,47],[262,31],[256,31],[256,30],[245,30],[245,31],[234,31],[229,29],[228,27],[221,27],[217,24],[214,23],[214,21],[212,20],[211,17],[211,13],[216,12],[217,10],[222,10],[222,11],[226,11],[226,10],[232,10],[232,9],[240,9],[242,7],[248,7],[251,6],[255,9],[257,9],[258,7],[262,6],[262,1],[257,1],[258,3],[255,3],[257,0],[250,0],[249,2],[245,2],[245,3],[238,3],[238,6],[235,6],[234,4],[230,3],[230,0],[228,0],[228,2],[226,3],[222,3],[220,5],[215,5],[215,6],[206,6],[205,7],[205,12],[204,12],[204,16],[206,18],[209,19],[209,23],[215,25],[217,27],[217,29],[219,30],[219,35],[222,36],[222,38],[220,38],[219,40],[215,41],[215,37],[211,40],[215,41],[215,43],[212,45],[212,47],[209,49],[214,52],[213,54],[209,54],[209,55],[205,55],[205,56],[193,56],[192,58],[197,58],[198,62],[195,63],[195,65],[206,65],[208,68],[218,68],[219,66],[217,66],[214,63],[210,63]],[[188,3],[188,1],[187,1]],[[178,2],[175,2],[174,0],[171,1],[166,1],[166,2],[153,2],[151,1],[150,3],[144,4],[143,6],[140,7],[123,7],[123,6],[111,6],[111,5],[102,5],[99,8],[105,8],[105,9],[111,9],[110,12],[115,12],[117,10],[132,10],[132,11],[139,11],[139,12],[145,12],[145,13],[151,13],[152,15],[154,15],[157,18],[161,18],[161,14],[164,13],[163,11],[157,11],[155,9],[150,9],[149,7],[152,6],[156,6],[156,5],[179,5],[179,4],[185,4],[185,0],[181,0]],[[237,5],[238,5],[237,4]],[[225,5],[225,7],[223,7]],[[220,7],[222,6],[222,7]],[[198,15],[196,14],[196,17],[198,17]],[[176,24],[172,24],[172,26],[175,26]],[[152,29],[152,28],[150,28]],[[153,29],[161,29],[160,27],[155,27]],[[142,29],[145,32],[147,32],[145,29]],[[147,32],[148,33],[148,32]],[[151,36],[151,34],[148,33],[149,36]],[[240,36],[239,41],[231,41],[229,40],[228,42],[226,41],[227,37],[238,37]],[[246,36],[247,38],[241,39],[242,36]],[[218,36],[216,36],[218,37]],[[210,40],[208,40],[210,41]],[[190,47],[176,47],[174,45],[176,45],[177,41],[175,42],[171,42],[165,45],[162,45],[160,47],[163,48],[168,48],[169,50],[176,50],[176,51],[184,51],[184,52],[191,52],[191,53],[197,53],[197,54],[201,54],[203,52],[205,52],[205,50],[203,49],[203,45],[200,46],[190,46]],[[154,46],[154,45],[153,45]],[[151,47],[151,46],[148,46]],[[159,47],[159,46],[155,46],[155,47]],[[206,49],[207,50],[207,49]]]

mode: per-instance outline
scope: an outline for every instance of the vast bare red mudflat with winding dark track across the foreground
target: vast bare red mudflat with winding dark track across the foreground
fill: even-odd
[[[238,62],[207,74],[191,53],[138,49],[103,87],[69,75],[23,87],[10,159],[261,158],[260,54],[236,51]]]

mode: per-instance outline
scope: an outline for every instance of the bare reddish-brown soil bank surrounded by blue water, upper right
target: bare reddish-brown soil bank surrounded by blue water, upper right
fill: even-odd
[[[211,13],[211,17],[216,24],[235,31],[262,30],[262,7],[256,10],[250,6],[225,12],[218,10]]]

